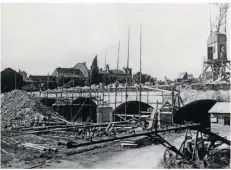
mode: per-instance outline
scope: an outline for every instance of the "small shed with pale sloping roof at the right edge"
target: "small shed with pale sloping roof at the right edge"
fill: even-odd
[[[230,103],[217,102],[210,110],[210,117],[216,118],[220,125],[230,125]]]

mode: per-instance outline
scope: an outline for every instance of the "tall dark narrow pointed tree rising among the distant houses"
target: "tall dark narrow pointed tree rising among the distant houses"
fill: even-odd
[[[98,84],[99,83],[99,68],[98,68],[98,60],[97,55],[92,61],[91,72],[90,72],[90,84]]]

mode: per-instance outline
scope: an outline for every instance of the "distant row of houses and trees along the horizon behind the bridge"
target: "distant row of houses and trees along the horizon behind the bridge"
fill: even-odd
[[[106,64],[105,68],[99,68],[97,56],[95,56],[91,67],[87,67],[86,63],[77,63],[72,68],[55,68],[52,74],[48,75],[29,75],[25,71],[16,71],[12,68],[6,68],[1,72],[1,91],[8,92],[13,89],[21,89],[26,91],[39,91],[46,89],[55,89],[58,87],[84,87],[91,85],[104,86],[132,86],[139,84],[147,86],[171,85],[173,83],[196,83],[201,81],[201,77],[194,78],[192,74],[187,72],[179,73],[175,80],[165,77],[165,80],[157,80],[148,74],[140,72],[132,73],[132,68],[123,67],[120,69],[112,69]]]

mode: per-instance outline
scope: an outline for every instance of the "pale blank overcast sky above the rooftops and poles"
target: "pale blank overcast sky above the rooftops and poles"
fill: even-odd
[[[212,8],[212,20],[216,15]],[[105,52],[116,69],[119,40],[122,69],[129,25],[129,65],[136,73],[141,23],[143,73],[163,79],[187,71],[197,77],[210,30],[208,4],[3,4],[1,19],[1,70],[35,75],[78,62],[90,67],[95,55],[104,68]]]

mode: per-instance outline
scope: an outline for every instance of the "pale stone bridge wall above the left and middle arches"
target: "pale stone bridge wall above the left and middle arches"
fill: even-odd
[[[127,99],[126,99],[127,93]],[[89,90],[54,90],[45,92],[32,92],[33,96],[40,99],[48,99],[53,101],[69,100],[74,101],[78,98],[92,98],[92,101],[96,103],[97,106],[111,106],[113,109],[119,105],[130,101],[141,101],[142,103],[149,104],[150,106],[156,106],[157,102],[164,103],[168,100],[172,100],[172,91],[161,90],[156,88],[142,88],[141,90],[141,100],[140,91],[137,88],[130,88],[125,90],[125,88],[118,88],[117,92],[115,89],[110,88],[106,90],[92,89]],[[175,93],[176,94],[176,93]]]

